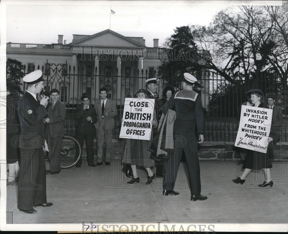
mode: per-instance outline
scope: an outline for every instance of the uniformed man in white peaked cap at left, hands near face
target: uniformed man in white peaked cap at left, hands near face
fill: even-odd
[[[52,206],[46,200],[46,167],[43,155],[43,118],[48,98],[37,100],[45,78],[41,70],[24,76],[27,90],[18,105],[20,132],[20,181],[18,181],[18,209],[28,214],[36,213],[34,206]]]

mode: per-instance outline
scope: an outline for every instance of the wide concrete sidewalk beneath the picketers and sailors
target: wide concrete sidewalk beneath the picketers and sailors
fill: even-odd
[[[200,224],[205,225],[202,231],[252,231],[251,228],[255,228],[253,231],[287,232],[287,161],[273,164],[271,176],[275,186],[272,188],[257,186],[263,183],[262,171],[252,170],[243,185],[233,183],[232,179],[242,173],[242,165],[237,162],[200,160],[201,193],[208,196],[208,200],[194,202],[190,201],[185,162],[180,164],[175,185],[175,191],[180,194],[163,196],[163,179],[157,178],[145,185],[147,174],[143,168],[140,168],[140,183],[129,185],[130,178],[122,173],[120,159],[113,159],[111,166],[90,167],[83,157],[81,168],[62,169],[59,174],[46,176],[47,202],[52,202],[53,206],[37,207],[36,214],[20,212],[17,189],[7,186],[6,222],[51,224],[46,231],[83,231],[86,228],[98,231],[104,228],[89,223],[94,222],[119,226],[137,224],[137,231],[141,230],[141,224],[153,224],[156,229],[162,225],[161,229],[165,229],[163,224],[167,223],[190,225],[190,231],[194,228],[191,225],[195,225],[194,231],[201,231],[201,226],[197,226]],[[47,161],[46,167],[49,169]],[[156,168],[152,170],[155,172]],[[26,227],[28,230],[29,227],[43,230],[41,225]]]

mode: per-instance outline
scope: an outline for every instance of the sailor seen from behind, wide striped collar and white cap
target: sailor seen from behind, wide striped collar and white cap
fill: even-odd
[[[200,166],[195,135],[195,122],[200,133],[202,143],[204,141],[204,118],[200,95],[194,92],[192,87],[197,79],[189,73],[184,73],[183,90],[175,93],[163,106],[163,112],[173,109],[176,111],[174,124],[174,143],[177,147],[177,155],[169,156],[166,162],[164,175],[163,195],[178,195],[174,191],[178,168],[184,150],[189,173],[191,200],[206,200],[201,195]]]

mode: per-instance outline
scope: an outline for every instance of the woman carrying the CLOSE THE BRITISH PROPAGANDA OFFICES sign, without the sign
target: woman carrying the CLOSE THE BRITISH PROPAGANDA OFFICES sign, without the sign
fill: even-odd
[[[147,98],[147,91],[145,89],[140,89],[135,94],[135,97]],[[123,122],[123,119],[121,119],[121,122]],[[154,111],[152,127],[156,126],[156,123],[157,123],[156,113]],[[151,134],[151,138],[152,137],[153,136]],[[150,141],[147,141],[147,140],[133,139],[130,142],[126,142],[123,162],[131,164],[131,168],[133,172],[133,178],[127,182],[128,184],[133,184],[135,182],[139,183],[140,181],[140,178],[138,177],[136,165],[143,166],[146,169],[147,174],[148,174],[146,185],[149,185],[150,183],[152,183],[152,180],[156,178],[155,174],[152,172],[150,168],[151,166],[154,166],[154,160],[150,159],[149,145],[150,145]]]

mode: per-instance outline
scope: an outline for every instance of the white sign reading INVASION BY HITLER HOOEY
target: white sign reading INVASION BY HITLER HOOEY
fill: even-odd
[[[242,105],[235,146],[266,153],[271,120],[272,110]]]

